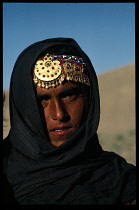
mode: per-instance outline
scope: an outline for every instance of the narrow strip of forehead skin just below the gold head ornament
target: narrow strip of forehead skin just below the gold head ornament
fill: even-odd
[[[55,94],[58,95],[64,91],[68,91],[68,90],[72,90],[76,87],[80,87],[79,84],[77,83],[73,83],[73,82],[64,82],[63,84],[55,87],[55,88],[40,88],[40,87],[36,87],[37,90],[37,94],[38,95],[42,95],[42,94],[47,94],[47,95],[51,95],[51,94]]]

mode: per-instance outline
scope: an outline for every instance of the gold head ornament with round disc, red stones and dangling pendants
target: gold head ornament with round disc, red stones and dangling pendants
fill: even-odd
[[[78,56],[49,55],[40,58],[34,67],[33,80],[37,87],[52,88],[64,80],[90,86],[86,64]]]

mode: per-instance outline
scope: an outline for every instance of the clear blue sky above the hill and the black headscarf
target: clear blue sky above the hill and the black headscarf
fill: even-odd
[[[3,3],[3,89],[19,54],[55,37],[77,41],[97,75],[135,62],[134,3]]]

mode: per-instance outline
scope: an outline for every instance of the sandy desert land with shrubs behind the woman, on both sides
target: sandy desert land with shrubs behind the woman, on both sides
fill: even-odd
[[[106,151],[113,151],[136,165],[135,64],[98,75],[100,90],[99,141]],[[4,90],[3,139],[8,135],[9,92]]]

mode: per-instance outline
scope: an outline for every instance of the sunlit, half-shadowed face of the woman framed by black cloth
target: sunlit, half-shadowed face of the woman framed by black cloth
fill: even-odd
[[[72,137],[83,123],[85,101],[77,83],[66,82],[56,88],[37,87],[50,141],[60,146]]]

